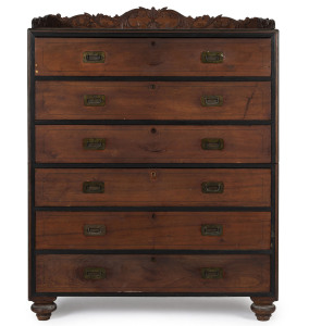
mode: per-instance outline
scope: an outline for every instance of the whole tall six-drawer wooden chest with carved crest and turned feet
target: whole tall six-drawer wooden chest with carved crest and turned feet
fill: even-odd
[[[277,30],[49,15],[28,30],[29,300],[277,300]]]

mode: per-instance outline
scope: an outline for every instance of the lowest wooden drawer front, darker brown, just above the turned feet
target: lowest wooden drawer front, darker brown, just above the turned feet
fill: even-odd
[[[211,268],[211,269],[209,269]],[[268,292],[268,255],[37,255],[38,292]]]

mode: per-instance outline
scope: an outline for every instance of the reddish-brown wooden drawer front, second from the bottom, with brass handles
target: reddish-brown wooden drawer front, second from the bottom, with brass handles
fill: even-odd
[[[37,212],[37,249],[270,249],[269,212]]]

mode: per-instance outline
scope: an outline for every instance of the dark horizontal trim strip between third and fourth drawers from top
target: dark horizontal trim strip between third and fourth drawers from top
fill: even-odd
[[[36,163],[35,168],[271,168],[271,163]]]

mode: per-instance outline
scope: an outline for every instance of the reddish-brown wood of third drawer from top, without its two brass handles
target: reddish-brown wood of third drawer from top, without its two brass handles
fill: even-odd
[[[36,126],[38,163],[270,163],[271,127],[261,126]],[[83,139],[104,139],[85,149]],[[202,149],[202,139],[224,148]]]

